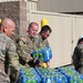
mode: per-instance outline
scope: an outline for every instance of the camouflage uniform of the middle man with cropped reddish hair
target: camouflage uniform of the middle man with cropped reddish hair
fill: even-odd
[[[20,56],[20,63],[22,65],[32,65],[32,56],[31,53],[35,49],[34,39],[29,35],[29,33],[24,33],[19,42],[18,42],[18,54]]]

